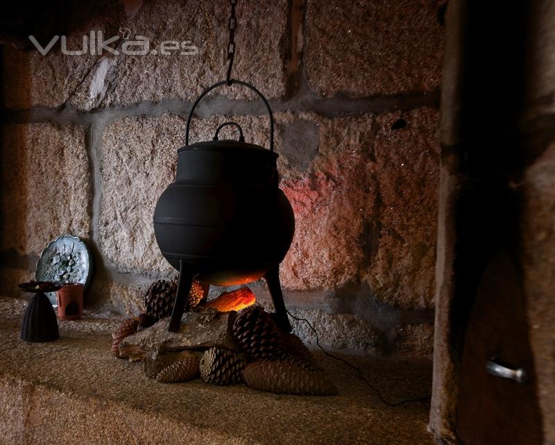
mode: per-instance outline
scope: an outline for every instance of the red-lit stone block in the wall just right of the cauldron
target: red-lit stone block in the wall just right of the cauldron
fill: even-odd
[[[313,172],[284,175],[281,187],[295,212],[295,235],[280,276],[289,289],[334,289],[364,264],[361,234],[375,212],[370,148],[375,119],[320,119]]]

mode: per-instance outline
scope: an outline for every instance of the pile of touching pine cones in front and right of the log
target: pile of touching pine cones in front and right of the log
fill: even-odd
[[[246,383],[253,389],[280,394],[337,394],[302,341],[282,333],[263,308],[241,310],[232,331],[240,352],[212,347],[200,360],[191,356],[169,364],[156,380],[184,382],[200,374],[214,385]]]

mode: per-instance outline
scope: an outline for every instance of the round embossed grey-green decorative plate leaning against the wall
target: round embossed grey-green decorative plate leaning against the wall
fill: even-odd
[[[73,235],[62,235],[42,251],[37,262],[35,280],[89,285],[92,272],[92,255],[85,243]],[[46,294],[56,308],[56,293]]]

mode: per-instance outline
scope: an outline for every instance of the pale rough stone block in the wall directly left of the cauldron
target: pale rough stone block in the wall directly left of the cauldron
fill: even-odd
[[[100,149],[99,246],[120,271],[169,273],[158,249],[153,215],[157,199],[175,176],[183,121],[166,115],[114,121]]]

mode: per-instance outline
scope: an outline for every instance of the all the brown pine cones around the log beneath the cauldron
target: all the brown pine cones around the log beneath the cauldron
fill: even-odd
[[[145,314],[124,320],[112,335],[112,355],[119,356],[119,342],[139,327],[150,326],[173,310],[178,280],[159,280],[144,297]],[[203,300],[203,288],[195,281],[189,293],[189,307]],[[241,310],[232,326],[239,351],[212,347],[200,358],[185,353],[157,372],[162,383],[176,383],[200,376],[214,385],[246,383],[253,389],[280,394],[337,394],[337,388],[316,367],[302,341],[283,333],[264,308],[254,305]]]

